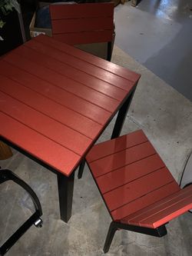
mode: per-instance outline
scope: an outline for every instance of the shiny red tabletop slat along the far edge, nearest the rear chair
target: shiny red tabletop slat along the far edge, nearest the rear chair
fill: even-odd
[[[83,61],[93,64],[99,68],[103,68],[106,71],[110,71],[111,73],[121,76],[122,78],[127,79],[128,81],[132,81],[136,83],[141,75],[131,71],[127,68],[120,67],[112,62],[107,62],[102,58],[97,58],[94,55],[88,54],[88,52],[84,52],[79,50],[78,48],[74,48],[71,45],[67,45],[63,42],[55,41],[53,38],[49,38],[45,35],[38,35],[35,37],[33,41],[38,41],[43,43],[44,45],[49,45],[51,48],[58,49],[61,52],[68,53],[68,55],[75,56],[76,58],[80,58]]]

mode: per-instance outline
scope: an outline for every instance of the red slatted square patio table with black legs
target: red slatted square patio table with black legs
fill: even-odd
[[[58,176],[71,217],[74,171],[118,112],[120,135],[140,75],[39,35],[0,60],[0,140]]]

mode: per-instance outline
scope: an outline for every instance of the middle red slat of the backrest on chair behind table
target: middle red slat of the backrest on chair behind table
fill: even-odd
[[[113,19],[111,17],[99,18],[65,18],[61,20],[51,21],[53,34],[74,33],[74,32],[90,32],[96,30],[112,30],[114,28]]]

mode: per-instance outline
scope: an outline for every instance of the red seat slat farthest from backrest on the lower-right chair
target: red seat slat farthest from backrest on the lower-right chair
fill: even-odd
[[[126,148],[131,148],[146,141],[148,141],[148,139],[142,130],[134,131],[128,135],[123,135],[94,145],[86,156],[86,159],[91,163],[99,158],[104,158],[108,155],[117,153],[118,151],[122,151]]]

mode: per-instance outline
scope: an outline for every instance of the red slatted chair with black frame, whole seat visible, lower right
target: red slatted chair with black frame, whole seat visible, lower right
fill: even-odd
[[[177,185],[141,130],[94,145],[86,160],[112,218],[104,252],[118,229],[162,237],[192,208],[192,185]]]

